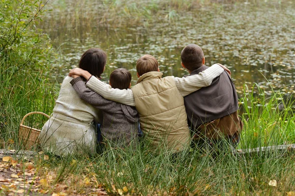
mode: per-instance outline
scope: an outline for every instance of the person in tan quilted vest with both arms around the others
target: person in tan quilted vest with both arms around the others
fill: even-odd
[[[86,85],[106,99],[135,106],[139,112],[142,132],[152,141],[153,146],[164,146],[177,152],[189,146],[191,139],[183,97],[210,85],[224,71],[223,67],[214,64],[191,77],[161,78],[157,60],[145,55],[137,61],[139,80],[131,90],[114,89],[79,68],[71,70],[69,75],[80,75],[88,79]]]

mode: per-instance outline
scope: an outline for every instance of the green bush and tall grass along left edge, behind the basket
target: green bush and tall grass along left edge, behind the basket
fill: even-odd
[[[52,45],[48,35],[36,28],[46,11],[45,4],[33,0],[0,1],[1,148],[8,141],[17,141],[18,126],[26,113],[52,111],[54,85],[48,80]]]

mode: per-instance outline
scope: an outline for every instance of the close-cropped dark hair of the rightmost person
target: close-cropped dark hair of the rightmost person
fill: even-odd
[[[203,65],[204,53],[197,44],[189,44],[181,51],[181,61],[185,68],[193,71]]]

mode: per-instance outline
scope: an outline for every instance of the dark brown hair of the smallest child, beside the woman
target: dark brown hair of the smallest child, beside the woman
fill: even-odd
[[[110,83],[113,88],[127,89],[131,82],[132,76],[130,71],[124,68],[115,69],[110,75]]]

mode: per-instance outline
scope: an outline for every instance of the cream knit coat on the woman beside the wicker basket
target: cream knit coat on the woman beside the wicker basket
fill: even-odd
[[[95,128],[92,121],[102,121],[101,112],[81,100],[66,77],[50,119],[43,126],[40,142],[44,148],[64,155],[76,148],[95,149]]]

